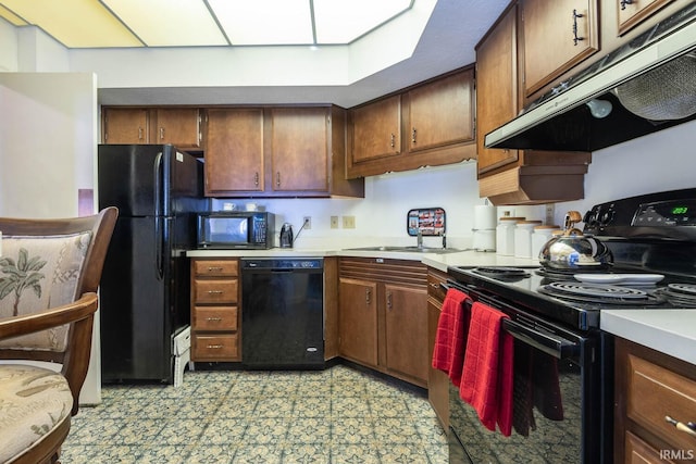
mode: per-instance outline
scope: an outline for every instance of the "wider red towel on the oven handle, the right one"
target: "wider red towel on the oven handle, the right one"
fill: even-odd
[[[512,431],[512,336],[502,330],[508,316],[475,302],[471,308],[459,396],[473,406],[481,423],[509,437]]]

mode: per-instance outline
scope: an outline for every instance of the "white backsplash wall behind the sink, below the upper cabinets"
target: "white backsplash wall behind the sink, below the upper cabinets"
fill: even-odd
[[[239,208],[248,200],[217,199],[213,203],[222,209],[229,201]],[[322,247],[337,243],[341,247],[384,244],[413,244],[406,229],[407,213],[411,209],[443,208],[447,218],[447,236],[450,247],[471,246],[474,205],[484,204],[478,198],[476,164],[473,162],[450,166],[430,167],[407,173],[394,173],[365,179],[364,199],[279,199],[249,200],[278,214],[276,229],[283,222],[293,224],[295,234],[302,225],[303,216],[312,217],[312,228],[302,230],[297,247]],[[543,206],[506,206],[518,215],[544,220]],[[356,216],[356,228],[331,228],[331,216]],[[442,239],[425,237],[426,246],[439,246]]]

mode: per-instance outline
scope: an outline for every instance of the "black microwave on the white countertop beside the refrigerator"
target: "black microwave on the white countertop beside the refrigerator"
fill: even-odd
[[[273,248],[275,215],[258,211],[220,211],[198,215],[198,248]]]

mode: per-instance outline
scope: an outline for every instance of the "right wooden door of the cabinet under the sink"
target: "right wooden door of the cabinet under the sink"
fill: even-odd
[[[385,284],[387,367],[427,381],[427,292]]]

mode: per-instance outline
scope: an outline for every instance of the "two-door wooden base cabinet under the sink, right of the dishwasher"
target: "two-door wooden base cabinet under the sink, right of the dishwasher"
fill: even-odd
[[[430,365],[426,275],[421,263],[341,258],[339,355],[426,387]]]

